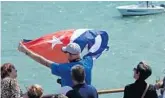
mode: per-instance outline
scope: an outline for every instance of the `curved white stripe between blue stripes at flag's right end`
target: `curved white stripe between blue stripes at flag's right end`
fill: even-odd
[[[96,36],[95,44],[89,49],[89,52],[92,53],[96,52],[101,46],[101,41],[102,41],[101,35]]]

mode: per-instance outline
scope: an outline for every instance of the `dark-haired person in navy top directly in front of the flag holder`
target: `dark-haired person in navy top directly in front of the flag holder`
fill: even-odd
[[[98,98],[96,88],[85,83],[86,75],[82,65],[73,66],[71,76],[74,86],[72,86],[72,89],[62,87],[61,94],[65,94],[68,98]]]

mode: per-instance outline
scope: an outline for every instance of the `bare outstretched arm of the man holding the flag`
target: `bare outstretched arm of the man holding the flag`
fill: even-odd
[[[25,53],[27,56],[29,56],[33,60],[37,61],[38,63],[45,65],[46,67],[51,68],[51,64],[53,63],[52,61],[47,60],[46,58],[32,52],[31,50],[26,48],[21,42],[19,43],[18,50],[20,52]]]

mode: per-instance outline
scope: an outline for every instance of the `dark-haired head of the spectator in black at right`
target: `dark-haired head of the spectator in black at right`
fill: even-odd
[[[146,80],[151,74],[151,67],[144,61],[139,62],[134,70],[134,78],[136,80]]]

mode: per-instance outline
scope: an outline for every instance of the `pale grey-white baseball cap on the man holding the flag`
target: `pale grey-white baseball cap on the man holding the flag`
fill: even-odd
[[[71,54],[80,54],[81,48],[77,43],[70,43],[65,47],[62,47],[63,52],[69,52]]]

